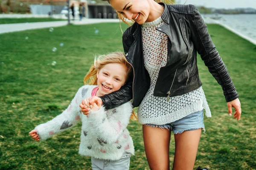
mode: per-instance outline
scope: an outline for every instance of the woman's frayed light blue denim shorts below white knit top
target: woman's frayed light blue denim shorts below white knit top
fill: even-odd
[[[161,129],[169,129],[172,130],[174,134],[179,134],[184,131],[203,129],[204,128],[204,110],[198,111],[195,113],[191,113],[188,116],[185,116],[179,120],[176,120],[172,123],[167,123],[165,125],[153,125],[153,124],[145,124],[146,126],[151,127],[160,127]]]

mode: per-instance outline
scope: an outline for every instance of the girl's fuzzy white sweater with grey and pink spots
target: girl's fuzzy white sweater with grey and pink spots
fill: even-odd
[[[79,104],[82,99],[91,96],[95,87],[96,85],[82,86],[64,112],[36,126],[40,140],[70,129],[81,120],[79,154],[106,160],[118,160],[124,152],[134,155],[134,144],[126,128],[132,113],[131,102],[108,111],[102,106],[99,111],[91,111],[87,116],[81,113]]]

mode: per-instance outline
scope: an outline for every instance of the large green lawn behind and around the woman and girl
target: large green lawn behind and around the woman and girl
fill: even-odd
[[[122,25],[123,30],[126,27]],[[221,26],[209,25],[208,29],[239,92],[242,116],[240,121],[228,116],[221,86],[198,57],[212,118],[204,119],[207,132],[201,135],[195,168],[201,165],[211,170],[253,170],[256,47]],[[121,39],[119,23],[0,34],[0,170],[91,169],[90,158],[78,154],[81,123],[45,142],[34,142],[28,133],[67,108],[83,85],[94,55],[122,51]],[[142,127],[131,121],[128,130],[135,146],[130,169],[149,170]],[[174,148],[172,134],[171,164]]]

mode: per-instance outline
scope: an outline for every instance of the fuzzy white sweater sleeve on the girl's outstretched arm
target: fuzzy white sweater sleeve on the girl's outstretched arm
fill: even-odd
[[[84,90],[85,88],[79,88],[68,108],[60,115],[35,127],[42,141],[52,137],[52,135],[70,129],[79,122],[81,115],[79,104],[82,101]]]

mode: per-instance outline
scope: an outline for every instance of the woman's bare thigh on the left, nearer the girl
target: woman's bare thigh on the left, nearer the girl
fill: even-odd
[[[169,170],[171,131],[143,125],[143,139],[148,165],[151,170]]]

